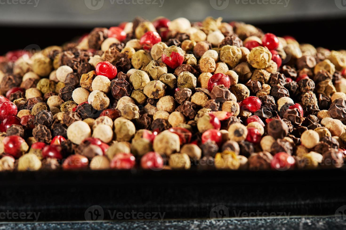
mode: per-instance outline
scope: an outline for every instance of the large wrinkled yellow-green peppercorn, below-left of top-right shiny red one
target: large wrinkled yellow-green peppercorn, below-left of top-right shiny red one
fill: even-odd
[[[249,64],[256,69],[264,69],[269,65],[272,53],[263,46],[253,48],[248,56]]]

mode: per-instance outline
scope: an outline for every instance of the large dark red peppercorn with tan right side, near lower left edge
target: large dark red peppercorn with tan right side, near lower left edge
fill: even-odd
[[[29,148],[23,138],[15,135],[5,137],[2,143],[4,152],[10,154],[14,158],[19,158]]]

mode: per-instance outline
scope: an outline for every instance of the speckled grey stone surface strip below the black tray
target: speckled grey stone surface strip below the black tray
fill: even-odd
[[[343,222],[346,224],[346,222]],[[103,221],[103,222],[37,222],[0,223],[1,229],[346,229],[346,225],[328,217],[290,218],[232,218],[215,220],[165,220],[165,221]]]

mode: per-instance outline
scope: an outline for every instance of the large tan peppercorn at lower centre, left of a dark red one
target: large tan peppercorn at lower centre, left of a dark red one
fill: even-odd
[[[156,152],[163,152],[166,156],[180,151],[179,136],[173,132],[165,130],[157,134],[153,142],[153,149]]]

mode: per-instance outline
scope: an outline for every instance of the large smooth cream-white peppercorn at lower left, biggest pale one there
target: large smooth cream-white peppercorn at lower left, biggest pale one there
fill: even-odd
[[[67,128],[67,138],[75,144],[80,144],[88,137],[91,137],[91,130],[84,121],[75,121]]]

